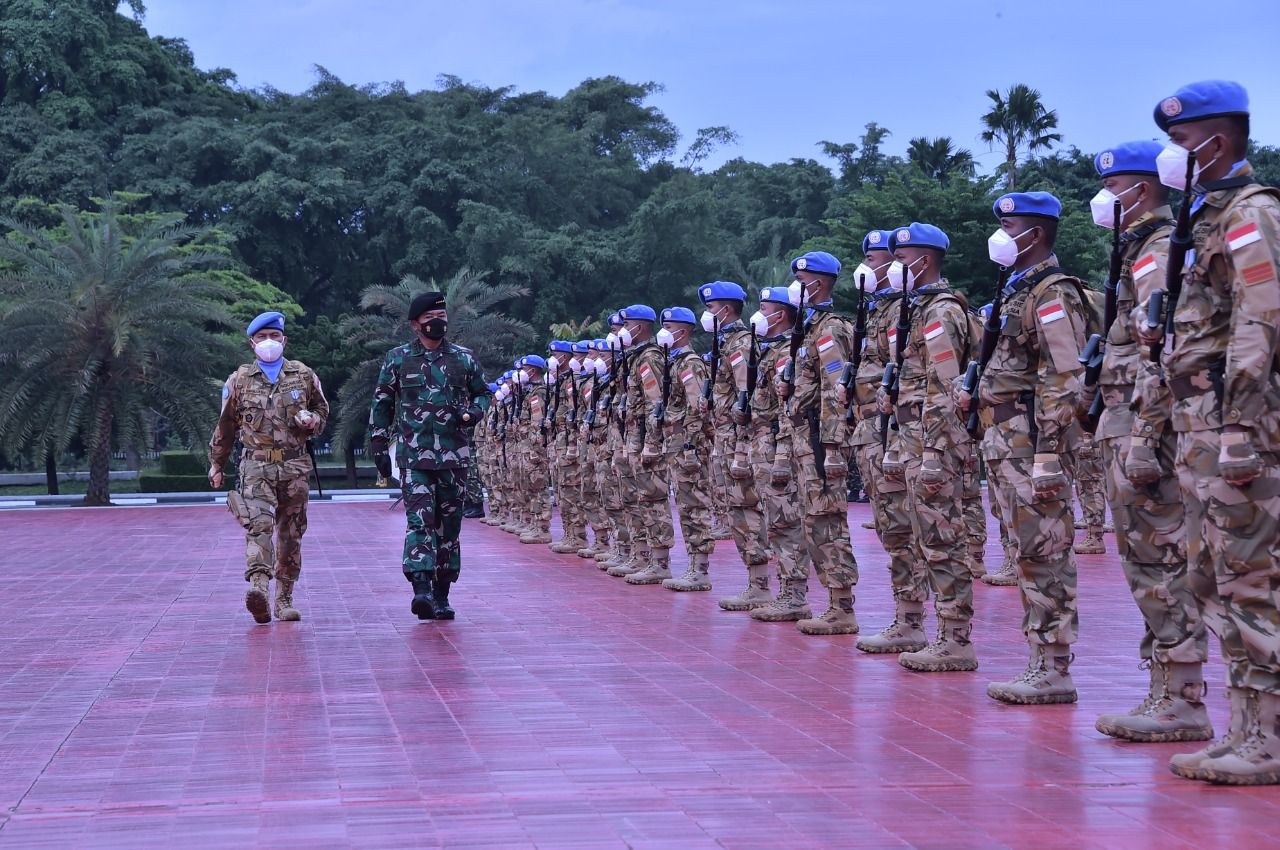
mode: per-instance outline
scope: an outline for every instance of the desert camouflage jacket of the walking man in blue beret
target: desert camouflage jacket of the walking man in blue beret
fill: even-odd
[[[308,410],[320,417],[320,428],[305,431],[293,421],[300,411]],[[230,457],[239,437],[246,453],[279,452],[280,458],[301,458],[307,438],[324,429],[329,419],[329,402],[320,388],[320,379],[297,360],[285,360],[273,384],[257,362],[244,364],[223,384],[223,410],[209,440],[209,461],[221,467]]]

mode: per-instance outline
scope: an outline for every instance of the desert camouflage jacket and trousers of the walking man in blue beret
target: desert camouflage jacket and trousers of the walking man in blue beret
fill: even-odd
[[[303,410],[320,417],[315,431],[294,424],[294,416]],[[246,581],[252,581],[255,573],[298,580],[311,475],[306,443],[328,419],[329,402],[320,379],[301,361],[285,360],[274,384],[256,362],[241,366],[227,379],[221,412],[209,440],[209,460],[221,469],[239,438],[239,476],[227,507],[244,527]]]

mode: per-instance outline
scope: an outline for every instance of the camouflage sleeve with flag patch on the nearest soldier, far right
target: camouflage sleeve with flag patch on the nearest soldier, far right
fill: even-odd
[[[1280,337],[1280,205],[1254,196],[1226,219],[1231,333],[1226,344],[1222,422],[1253,428]]]

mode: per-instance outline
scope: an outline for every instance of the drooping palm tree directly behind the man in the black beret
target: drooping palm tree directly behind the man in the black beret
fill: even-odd
[[[408,305],[419,292],[442,289],[449,310],[449,341],[470,348],[485,374],[500,371],[517,343],[534,339],[529,323],[512,319],[497,306],[512,298],[529,296],[529,289],[508,283],[488,283],[488,271],[462,269],[442,288],[433,278],[422,282],[406,275],[394,287],[371,285],[360,296],[366,312],[349,316],[342,324],[347,344],[370,353],[356,366],[338,389],[338,419],[334,439],[347,451],[348,470],[355,463],[356,442],[369,424],[369,407],[374,401],[374,384],[383,366],[383,357],[397,346],[413,338],[408,326]]]

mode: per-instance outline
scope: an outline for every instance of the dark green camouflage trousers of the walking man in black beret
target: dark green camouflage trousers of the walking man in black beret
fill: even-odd
[[[404,575],[431,572],[457,581],[462,568],[458,533],[466,470],[407,470],[404,481]]]

